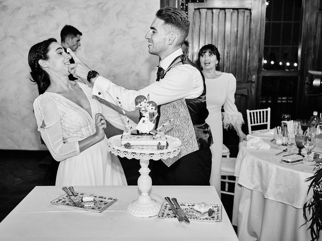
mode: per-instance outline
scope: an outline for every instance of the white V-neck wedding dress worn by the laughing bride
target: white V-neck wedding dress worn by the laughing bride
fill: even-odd
[[[79,153],[78,141],[96,133],[95,115],[103,110],[92,95],[92,87],[82,80],[75,82],[89,99],[91,114],[54,92],[45,92],[34,101],[38,131],[53,158],[60,162],[56,186],[127,185],[119,159],[108,151],[106,137]]]

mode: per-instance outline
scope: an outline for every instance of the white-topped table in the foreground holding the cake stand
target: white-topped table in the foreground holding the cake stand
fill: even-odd
[[[187,224],[163,214],[131,215],[127,207],[140,194],[137,186],[74,186],[74,189],[77,193],[95,194],[99,199],[107,197],[111,205],[101,212],[54,205],[53,201],[57,204],[64,199],[62,187],[36,186],[0,222],[0,240],[238,240],[223,206],[216,221],[190,219]],[[150,196],[160,203],[169,196],[176,197],[181,204],[222,205],[213,186],[152,186]]]

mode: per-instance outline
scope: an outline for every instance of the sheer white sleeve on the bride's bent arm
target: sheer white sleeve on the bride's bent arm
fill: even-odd
[[[51,97],[40,95],[36,98],[34,112],[38,131],[56,161],[63,161],[79,154],[78,142],[63,142],[59,112]]]

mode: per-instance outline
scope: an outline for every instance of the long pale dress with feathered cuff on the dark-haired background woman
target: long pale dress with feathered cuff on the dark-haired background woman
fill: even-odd
[[[205,78],[206,100],[209,115],[206,123],[210,126],[213,144],[210,185],[214,185],[220,196],[220,168],[222,159],[222,125],[224,128],[244,123],[243,115],[235,105],[236,79],[231,73],[222,73],[217,78]],[[221,113],[223,105],[224,113]]]

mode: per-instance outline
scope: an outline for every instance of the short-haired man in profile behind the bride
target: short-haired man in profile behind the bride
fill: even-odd
[[[75,52],[79,46],[81,46],[81,36],[83,34],[79,32],[76,28],[70,25],[65,25],[62,30],[60,31],[60,41],[61,46],[63,47],[64,51],[67,53],[67,49],[71,49],[73,52]],[[71,64],[75,63],[73,58],[69,60]],[[68,75],[69,80],[75,80],[74,76],[72,74]]]

